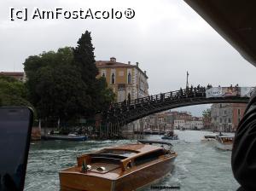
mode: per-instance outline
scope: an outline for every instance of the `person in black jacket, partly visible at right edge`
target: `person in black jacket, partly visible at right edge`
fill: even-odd
[[[231,165],[234,177],[241,184],[238,190],[256,190],[256,89],[238,124]]]

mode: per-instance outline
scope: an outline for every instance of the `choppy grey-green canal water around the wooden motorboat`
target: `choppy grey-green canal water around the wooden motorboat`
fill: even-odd
[[[175,133],[179,136],[179,140],[168,141],[172,142],[174,150],[177,152],[175,168],[160,182],[154,183],[154,186],[179,186],[178,190],[183,191],[227,191],[236,190],[239,187],[232,175],[231,152],[218,150],[209,142],[201,142],[202,136],[207,134],[207,131],[176,130]],[[161,140],[160,136],[146,136],[145,139]],[[135,141],[32,142],[27,164],[25,190],[59,190],[58,172],[75,165],[77,155],[131,142]],[[143,191],[146,190],[154,189],[143,188]]]

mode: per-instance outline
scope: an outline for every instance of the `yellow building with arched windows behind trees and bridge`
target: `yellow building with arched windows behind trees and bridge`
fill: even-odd
[[[146,71],[139,67],[137,62],[132,65],[121,63],[112,57],[109,61],[96,61],[96,67],[99,74],[96,78],[105,77],[110,87],[115,94],[115,101],[129,101],[148,96],[148,76]],[[134,131],[141,131],[146,128],[148,119],[138,119],[123,128],[125,136],[133,136]]]

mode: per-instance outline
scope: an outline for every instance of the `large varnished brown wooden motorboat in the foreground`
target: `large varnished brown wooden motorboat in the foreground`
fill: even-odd
[[[172,171],[177,153],[171,146],[169,142],[139,141],[83,154],[77,158],[77,165],[59,173],[61,190],[131,191],[142,188]]]

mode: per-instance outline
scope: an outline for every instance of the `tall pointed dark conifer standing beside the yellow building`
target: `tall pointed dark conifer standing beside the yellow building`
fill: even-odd
[[[96,78],[98,69],[95,64],[94,47],[91,43],[90,32],[86,31],[79,38],[77,47],[73,50],[74,65],[79,67],[84,84],[88,90],[91,114],[102,111],[113,101],[113,91],[108,89],[105,78]]]

